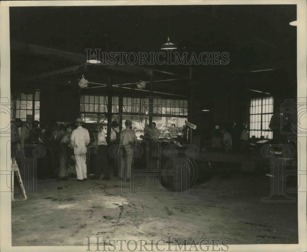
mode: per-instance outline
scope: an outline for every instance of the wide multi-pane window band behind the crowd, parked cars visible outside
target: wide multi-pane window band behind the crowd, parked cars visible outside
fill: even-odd
[[[153,122],[162,132],[162,137],[176,136],[181,132],[185,120],[188,116],[187,100],[161,99],[159,97],[112,97],[111,111],[108,111],[108,97],[95,95],[82,95],[80,102],[81,118],[85,122],[85,127],[91,128],[94,122],[103,124],[105,131],[107,129],[107,117],[109,113],[112,120],[122,122],[121,128],[126,128],[125,121],[132,121],[133,130],[137,134],[144,134],[145,124],[149,123],[149,112],[152,108]],[[122,108],[119,108],[122,104]],[[151,107],[152,106],[152,107]],[[122,114],[120,115],[120,109]],[[158,126],[159,125],[159,126]]]

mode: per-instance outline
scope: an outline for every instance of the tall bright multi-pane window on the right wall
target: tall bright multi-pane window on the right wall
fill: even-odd
[[[269,128],[273,115],[273,97],[251,99],[250,106],[250,137],[272,139],[272,130]]]

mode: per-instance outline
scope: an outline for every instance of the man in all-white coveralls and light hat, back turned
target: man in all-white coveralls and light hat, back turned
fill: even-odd
[[[86,175],[86,146],[90,143],[90,134],[87,129],[82,127],[83,121],[81,118],[76,120],[77,128],[73,130],[70,139],[70,146],[74,148],[76,158],[77,181],[87,180]]]

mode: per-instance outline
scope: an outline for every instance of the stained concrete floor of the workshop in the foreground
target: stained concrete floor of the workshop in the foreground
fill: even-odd
[[[161,190],[157,177],[148,190]],[[146,186],[137,176],[134,188]],[[294,187],[292,185],[291,187]],[[62,188],[62,189],[60,189]],[[198,202],[166,202],[173,193],[135,193],[143,202],[110,202],[118,195],[118,181],[76,182],[53,179],[37,182],[43,202],[12,202],[13,246],[87,246],[86,236],[101,239],[227,239],[229,244],[298,243],[297,201],[266,202],[270,177],[257,174],[215,176],[196,184],[190,196]],[[17,193],[15,193],[17,196]],[[289,194],[295,197],[295,193]],[[29,200],[37,200],[29,195]],[[189,199],[179,196],[180,200]],[[95,241],[95,240],[91,240]]]

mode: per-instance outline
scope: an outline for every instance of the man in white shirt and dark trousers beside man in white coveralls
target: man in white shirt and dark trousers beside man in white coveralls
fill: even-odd
[[[99,179],[101,175],[101,169],[104,173],[104,180],[110,180],[110,169],[108,164],[108,149],[106,133],[103,130],[103,126],[99,124],[96,125],[95,132],[98,132],[97,136],[97,154],[96,154],[96,166],[95,166],[95,177],[94,179]]]

